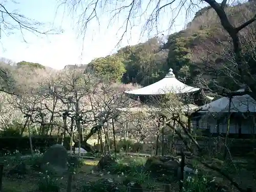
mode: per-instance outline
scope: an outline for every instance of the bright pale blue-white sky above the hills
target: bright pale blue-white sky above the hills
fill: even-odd
[[[57,0],[20,0],[22,3],[16,2],[6,1],[2,5],[9,12],[18,11],[18,13],[28,18],[45,23],[44,26],[46,29],[58,29],[62,32],[59,34],[36,36],[28,31],[23,31],[22,35],[19,30],[10,31],[5,29],[2,31],[0,40],[0,57],[11,59],[14,62],[23,60],[38,62],[41,65],[54,69],[63,69],[66,65],[87,64],[92,59],[112,54],[118,49],[116,45],[124,29],[121,29],[119,33],[117,32],[122,26],[127,12],[119,14],[119,18],[109,25],[111,13],[98,10],[100,26],[96,20],[92,20],[86,30],[86,35],[79,36],[78,32],[81,30],[79,30],[80,25],[77,21],[78,15],[81,13],[80,9],[77,9],[73,14],[68,14],[70,9],[64,6],[58,7],[59,2]],[[141,6],[145,8],[146,5],[143,4]],[[156,34],[155,30],[151,35],[145,33],[145,35],[141,36],[141,27],[147,17],[148,14],[145,14],[141,18],[133,19],[136,27],[126,33],[126,36],[124,36],[119,45],[120,47],[138,44],[138,42],[146,41],[148,37]],[[159,18],[159,31],[166,29],[171,17],[173,15],[165,14]],[[10,18],[5,17],[5,19],[7,22],[14,24]],[[185,13],[181,12],[175,21],[175,27],[170,31],[163,32],[164,35],[184,28],[186,23]],[[5,35],[4,32],[12,33]]]

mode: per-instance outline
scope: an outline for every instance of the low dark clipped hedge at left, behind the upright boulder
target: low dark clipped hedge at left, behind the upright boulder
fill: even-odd
[[[61,138],[49,136],[33,136],[33,150],[39,150],[44,153],[50,146],[61,143]],[[63,146],[69,150],[70,138],[66,137],[63,141]],[[30,153],[29,137],[0,137],[0,155],[6,153]]]

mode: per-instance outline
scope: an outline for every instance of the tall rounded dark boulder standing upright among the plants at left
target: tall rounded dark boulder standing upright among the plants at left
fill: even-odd
[[[41,169],[62,175],[68,169],[67,162],[68,152],[66,148],[60,144],[55,144],[42,156]]]

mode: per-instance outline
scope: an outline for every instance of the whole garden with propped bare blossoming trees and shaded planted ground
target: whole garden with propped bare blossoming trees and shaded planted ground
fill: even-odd
[[[127,85],[83,70],[33,84],[20,85],[26,90],[19,95],[0,93],[2,191],[255,189],[255,139],[248,158],[233,156],[231,138],[200,141],[180,113],[184,98],[168,95],[159,108],[138,108],[123,93]]]

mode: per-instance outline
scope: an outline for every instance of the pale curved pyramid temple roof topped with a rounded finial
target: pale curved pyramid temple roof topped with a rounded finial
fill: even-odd
[[[200,90],[199,88],[193,88],[193,87],[187,86],[183,82],[176,79],[173,73],[173,69],[170,68],[169,72],[163,79],[149,86],[146,86],[137,90],[125,91],[124,93],[132,94],[132,95],[164,95],[168,93],[174,93],[174,94],[191,93],[199,90]]]

